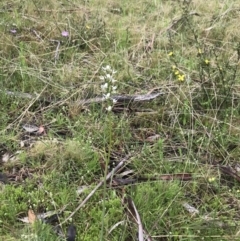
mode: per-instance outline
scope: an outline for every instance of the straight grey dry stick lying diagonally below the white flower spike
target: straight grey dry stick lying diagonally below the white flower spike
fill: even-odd
[[[98,183],[98,185],[87,195],[87,197],[78,205],[78,207],[71,213],[71,215],[69,217],[67,217],[62,223],[60,223],[59,225],[62,225],[64,223],[66,223],[68,220],[70,220],[75,213],[81,208],[83,207],[87,201],[93,196],[93,194],[97,191],[98,188],[100,188],[103,184],[104,181],[108,181],[110,178],[112,178],[112,176],[128,161],[128,159],[131,157],[132,155],[129,154],[127,155],[125,158],[122,159],[122,161],[119,162],[119,164],[110,172],[108,173],[108,175],[106,176],[106,178],[104,178],[102,181],[100,181]]]

